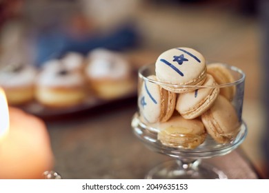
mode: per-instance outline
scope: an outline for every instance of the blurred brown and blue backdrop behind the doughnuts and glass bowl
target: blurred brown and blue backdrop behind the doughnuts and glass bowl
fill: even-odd
[[[268,177],[269,3],[266,0],[1,0],[0,66],[41,68],[67,52],[124,54],[133,69],[164,50],[190,47],[246,73],[242,148]]]

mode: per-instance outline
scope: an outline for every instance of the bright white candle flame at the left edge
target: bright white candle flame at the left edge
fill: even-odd
[[[9,128],[8,101],[5,92],[0,88],[0,139],[8,133]]]

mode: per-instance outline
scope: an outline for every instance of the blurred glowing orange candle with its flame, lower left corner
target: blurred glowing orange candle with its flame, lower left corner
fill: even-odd
[[[52,165],[45,123],[22,110],[8,108],[0,88],[0,179],[42,179]]]

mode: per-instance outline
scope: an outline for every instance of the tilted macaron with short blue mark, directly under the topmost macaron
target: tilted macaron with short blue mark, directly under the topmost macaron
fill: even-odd
[[[204,86],[217,85],[215,79],[210,75],[206,75]],[[192,92],[179,94],[177,97],[176,110],[185,119],[195,119],[203,112],[206,112],[219,95],[219,88],[199,88]]]

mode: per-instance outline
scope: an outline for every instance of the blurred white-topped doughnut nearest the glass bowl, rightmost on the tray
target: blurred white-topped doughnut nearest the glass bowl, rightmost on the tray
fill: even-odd
[[[90,88],[101,99],[115,99],[135,88],[130,63],[118,52],[92,50],[85,73]]]

